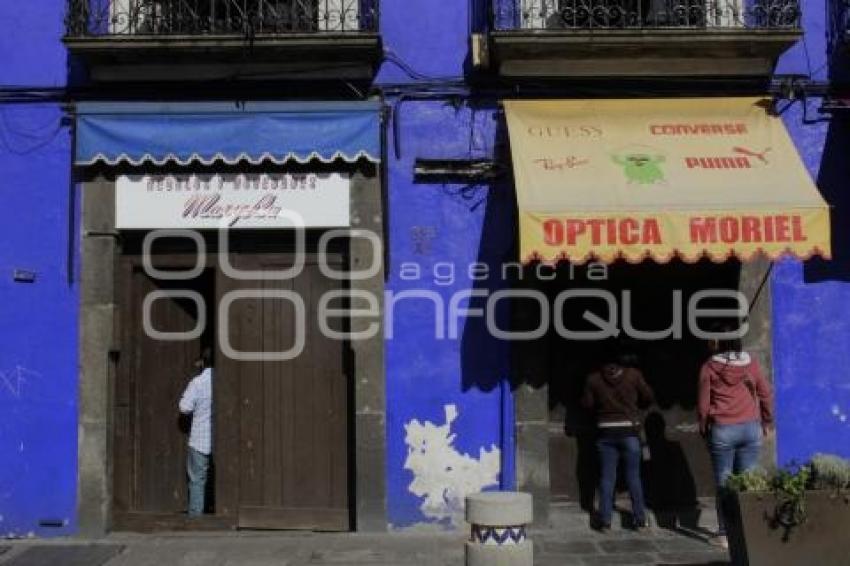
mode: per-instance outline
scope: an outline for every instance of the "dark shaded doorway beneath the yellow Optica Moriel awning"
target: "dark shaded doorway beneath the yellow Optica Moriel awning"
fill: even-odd
[[[708,352],[690,331],[687,310],[689,299],[698,291],[737,290],[740,273],[740,263],[735,260],[719,264],[673,260],[663,265],[618,262],[604,272],[598,267],[593,271],[561,263],[554,269],[532,265],[524,272],[527,280],[522,286],[542,291],[550,305],[567,289],[604,289],[616,298],[621,339],[636,354],[637,365],[657,399],[657,406],[646,415],[648,458],[643,474],[648,503],[656,511],[696,508],[697,498],[714,494],[710,460],[696,418],[699,368]],[[624,291],[630,293],[630,301],[624,298]],[[700,306],[730,308],[734,303],[706,299]],[[667,329],[676,308],[681,308],[683,316],[681,338],[632,339],[623,332],[626,316],[634,329]],[[532,301],[518,301],[515,310],[519,328],[536,327],[539,308]],[[573,299],[563,304],[565,325],[571,330],[598,329],[584,319],[586,312],[610,320],[608,307],[600,299]],[[710,322],[703,319],[701,327],[707,329]],[[594,505],[597,483],[596,427],[593,416],[580,406],[580,396],[605,347],[604,341],[565,339],[554,325],[543,338],[515,347],[521,379],[549,388],[552,501],[579,502],[588,511]]]

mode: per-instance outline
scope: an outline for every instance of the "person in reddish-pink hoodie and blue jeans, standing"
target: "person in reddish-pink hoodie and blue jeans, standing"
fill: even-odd
[[[731,334],[724,326],[718,333]],[[773,431],[773,395],[759,363],[740,339],[712,340],[713,355],[699,376],[699,426],[708,442],[717,484],[718,533],[712,543],[728,547],[722,490],[732,473],[758,466],[762,439]]]

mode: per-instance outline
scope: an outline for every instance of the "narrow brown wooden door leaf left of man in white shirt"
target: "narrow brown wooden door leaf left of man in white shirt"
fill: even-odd
[[[156,260],[160,269],[190,269],[193,258]],[[186,509],[186,445],[189,421],[177,407],[193,369],[202,337],[151,337],[143,327],[145,297],[160,290],[208,293],[212,274],[193,281],[162,281],[146,274],[139,256],[119,264],[121,346],[114,393],[113,477],[116,524],[138,524],[122,515],[157,516]],[[162,297],[150,304],[151,326],[160,332],[190,331],[198,308],[185,298]],[[209,321],[208,321],[209,322]]]

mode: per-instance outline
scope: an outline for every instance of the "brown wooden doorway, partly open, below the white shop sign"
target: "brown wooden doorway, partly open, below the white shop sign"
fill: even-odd
[[[215,236],[207,236],[212,253],[202,258],[201,274],[188,280],[149,274],[140,238],[125,237],[117,281],[114,527],[348,530],[353,525],[351,360],[345,341],[320,331],[317,314],[323,294],[346,282],[322,273],[315,251],[306,254],[302,272],[288,279],[231,278],[215,253]],[[286,269],[293,262],[290,240],[271,233],[234,237],[229,262],[267,274]],[[189,250],[185,239],[164,242],[151,259],[155,269],[186,272],[195,266],[191,242]],[[344,250],[327,255],[328,267],[346,269]],[[203,298],[206,325],[197,337],[157,339],[145,331],[145,297],[169,290]],[[232,300],[222,318],[222,300],[234,292],[247,295]],[[251,295],[259,292],[267,295]],[[294,297],[303,302],[303,317],[296,316]],[[149,311],[159,332],[186,332],[199,324],[195,301],[185,297],[149,301]],[[329,325],[341,332],[348,322],[336,319]],[[249,359],[286,352],[299,342],[303,349],[292,359]],[[233,357],[222,344],[249,356]],[[214,352],[212,475],[206,514],[188,520],[189,421],[181,420],[177,403],[206,347]]]

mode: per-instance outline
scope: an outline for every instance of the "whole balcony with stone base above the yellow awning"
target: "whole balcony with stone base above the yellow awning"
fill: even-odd
[[[508,78],[765,78],[801,36],[799,0],[491,0]]]

